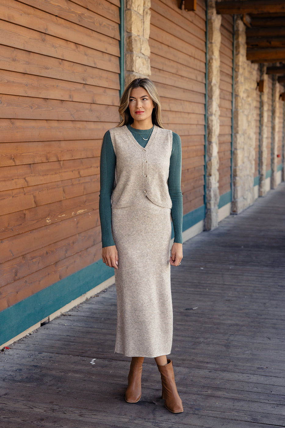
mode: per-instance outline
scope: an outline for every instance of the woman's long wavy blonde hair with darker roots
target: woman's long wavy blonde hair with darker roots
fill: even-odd
[[[151,115],[152,122],[154,125],[159,126],[159,128],[163,128],[161,113],[162,108],[159,93],[157,92],[155,84],[147,77],[144,77],[143,79],[132,80],[132,82],[129,83],[129,85],[124,90],[123,95],[120,98],[119,105],[119,113],[121,116],[121,120],[117,126],[131,125],[134,121],[129,111],[129,98],[132,89],[135,88],[144,88],[150,95],[150,98],[152,99],[154,105],[154,109]]]

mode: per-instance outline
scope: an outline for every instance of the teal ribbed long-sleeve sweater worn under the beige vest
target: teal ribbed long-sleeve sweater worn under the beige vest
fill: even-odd
[[[127,125],[135,140],[142,146],[147,145],[146,138],[150,134],[150,129],[136,131]],[[141,135],[140,135],[141,134]],[[170,156],[168,191],[172,202],[171,218],[174,229],[174,242],[182,244],[182,217],[183,204],[181,192],[181,140],[179,135],[173,134],[172,152]],[[116,155],[112,145],[110,132],[107,131],[103,138],[100,158],[100,200],[99,213],[102,232],[102,247],[115,245],[112,236],[111,226],[111,196],[115,181]]]

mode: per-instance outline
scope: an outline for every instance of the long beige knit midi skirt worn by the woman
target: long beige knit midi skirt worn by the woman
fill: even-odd
[[[127,357],[170,354],[170,209],[147,197],[129,207],[112,208],[112,233],[119,259],[115,352]]]

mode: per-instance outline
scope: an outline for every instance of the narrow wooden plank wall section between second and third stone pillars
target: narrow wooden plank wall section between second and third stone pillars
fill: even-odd
[[[233,17],[222,15],[220,26],[219,192],[231,190]]]

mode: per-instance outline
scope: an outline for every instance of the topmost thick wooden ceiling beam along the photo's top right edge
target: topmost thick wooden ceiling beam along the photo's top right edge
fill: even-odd
[[[285,12],[285,0],[238,0],[216,1],[219,14],[234,13],[282,13]]]

